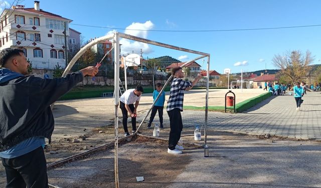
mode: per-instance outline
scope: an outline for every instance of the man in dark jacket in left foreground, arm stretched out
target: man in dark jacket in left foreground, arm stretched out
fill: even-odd
[[[0,52],[0,157],[7,187],[48,187],[43,146],[54,130],[50,104],[98,72],[87,67],[65,78],[42,79],[25,76],[28,65],[22,50]]]

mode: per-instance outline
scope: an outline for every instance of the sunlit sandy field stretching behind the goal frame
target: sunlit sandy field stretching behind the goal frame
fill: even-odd
[[[209,105],[223,106],[226,92],[227,89],[210,90]],[[241,92],[240,89],[235,89],[233,92],[236,94],[236,102],[238,103],[264,91],[262,89],[243,89],[243,92]],[[168,99],[169,93],[166,94],[166,99]],[[152,94],[143,94],[137,115],[145,115],[151,104]],[[205,90],[186,92],[184,105],[205,106]],[[86,149],[112,142],[114,139],[114,108],[111,97],[56,102],[53,109],[55,130],[52,135],[52,143],[45,148],[47,162],[54,162],[83,152]],[[119,136],[123,137],[119,108],[118,111],[120,116]],[[99,133],[99,131],[102,132]],[[141,131],[144,133],[151,132],[145,126],[142,126]],[[169,128],[164,129],[164,131],[169,132]],[[74,143],[75,138],[79,140],[78,143]],[[164,150],[162,151],[164,154]],[[3,165],[0,165],[0,187],[3,187],[5,183],[6,173]]]

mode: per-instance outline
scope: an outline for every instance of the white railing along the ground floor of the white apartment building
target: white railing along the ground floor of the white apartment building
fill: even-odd
[[[54,70],[55,66],[58,64],[62,69],[66,68],[65,59],[55,59],[55,60],[41,60],[43,58],[32,58],[30,59],[33,69],[47,69]]]

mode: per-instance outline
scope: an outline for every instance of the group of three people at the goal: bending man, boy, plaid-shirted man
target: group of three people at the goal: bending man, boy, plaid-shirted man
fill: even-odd
[[[199,74],[193,82],[185,81],[184,73],[181,67],[176,67],[172,69],[172,75],[174,79],[171,84],[170,96],[167,104],[167,113],[170,117],[170,137],[169,137],[169,147],[168,153],[171,154],[181,154],[184,149],[183,146],[178,145],[178,141],[181,138],[181,132],[183,130],[183,122],[181,112],[183,111],[183,100],[184,100],[184,91],[189,91],[193,88],[193,86],[202,78]],[[151,123],[158,111],[159,116],[159,128],[163,129],[163,109],[165,104],[165,92],[162,90],[162,84],[157,83],[156,89],[153,91],[153,101],[155,102],[154,106],[151,110],[151,115],[149,117],[149,122],[147,124],[147,128],[151,128]],[[137,107],[140,100],[140,95],[143,92],[143,88],[141,86],[137,86],[135,89],[128,89],[125,91],[120,97],[120,109],[122,111],[122,124],[124,127],[124,135],[129,136],[128,128],[127,128],[127,118],[128,113],[131,117],[131,125],[132,125],[132,133],[140,133],[136,130],[136,117],[137,117]],[[158,100],[156,100],[157,96],[159,96]],[[134,105],[135,104],[135,105]]]

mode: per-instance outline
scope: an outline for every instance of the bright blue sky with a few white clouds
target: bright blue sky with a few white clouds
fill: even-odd
[[[54,4],[53,4],[54,2]],[[10,3],[10,1],[9,1]],[[21,3],[33,7],[34,1]],[[222,0],[222,1],[40,1],[44,11],[73,20],[72,24],[145,30],[232,30],[321,25],[321,1],[318,0]],[[86,40],[106,35],[112,29],[70,25]],[[223,73],[273,69],[275,54],[290,50],[309,50],[321,63],[321,27],[229,32],[127,32],[174,46],[211,54],[211,70]],[[124,51],[154,58],[169,55],[186,61],[197,55],[146,46],[129,41]],[[318,61],[320,60],[320,61]],[[205,69],[202,61],[198,63]],[[241,66],[234,66],[234,65]]]

